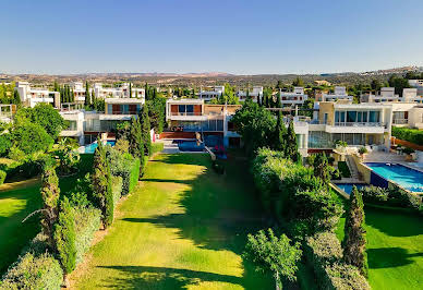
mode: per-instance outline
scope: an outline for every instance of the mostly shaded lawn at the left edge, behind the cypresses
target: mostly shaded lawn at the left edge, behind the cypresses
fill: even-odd
[[[62,192],[71,189],[75,180],[89,170],[92,160],[93,155],[83,155],[80,173],[60,179]],[[41,207],[39,186],[37,178],[0,186],[0,276],[40,230],[38,215],[22,223],[28,214]]]

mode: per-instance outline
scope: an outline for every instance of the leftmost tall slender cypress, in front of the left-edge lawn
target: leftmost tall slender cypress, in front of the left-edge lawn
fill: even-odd
[[[53,225],[58,218],[60,188],[53,160],[48,159],[44,166],[40,193],[43,198],[41,230],[47,235],[48,244],[55,249]]]

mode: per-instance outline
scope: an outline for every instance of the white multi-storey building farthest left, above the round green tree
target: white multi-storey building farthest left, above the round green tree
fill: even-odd
[[[21,96],[24,106],[35,107],[39,102],[51,104],[55,108],[60,108],[60,93],[50,92],[47,88],[31,87],[28,82],[16,82],[14,88]]]

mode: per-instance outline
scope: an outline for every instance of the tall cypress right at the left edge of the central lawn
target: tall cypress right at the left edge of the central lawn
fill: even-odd
[[[94,153],[93,193],[102,214],[105,229],[113,222],[113,194],[111,191],[111,173],[106,156],[106,148],[100,138]]]

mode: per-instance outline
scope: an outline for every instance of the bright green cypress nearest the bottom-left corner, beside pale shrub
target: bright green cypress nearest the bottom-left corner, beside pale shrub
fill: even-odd
[[[68,197],[60,203],[58,222],[55,225],[55,243],[64,277],[76,266],[75,215]],[[67,280],[67,278],[64,278]]]

